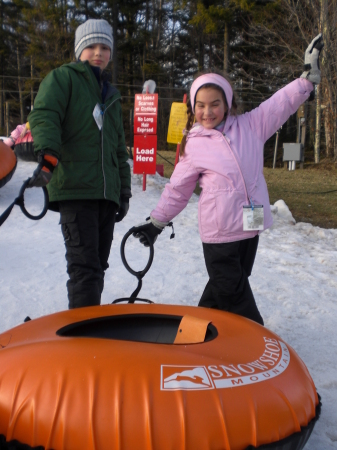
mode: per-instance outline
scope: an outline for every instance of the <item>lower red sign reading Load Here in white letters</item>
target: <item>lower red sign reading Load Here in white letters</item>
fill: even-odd
[[[133,150],[133,173],[156,173],[157,135],[135,135]]]

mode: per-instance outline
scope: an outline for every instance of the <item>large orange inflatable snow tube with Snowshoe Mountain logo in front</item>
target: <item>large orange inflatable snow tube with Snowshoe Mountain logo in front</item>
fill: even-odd
[[[295,351],[222,311],[95,306],[0,335],[1,449],[300,450],[319,409]]]

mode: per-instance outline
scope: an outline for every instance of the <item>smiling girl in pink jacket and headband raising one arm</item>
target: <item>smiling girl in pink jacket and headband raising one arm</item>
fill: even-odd
[[[306,51],[301,78],[242,115],[235,114],[233,90],[223,76],[204,74],[191,86],[180,161],[150,218],[135,227],[134,236],[145,246],[148,238],[154,243],[199,182],[199,232],[209,275],[199,306],[263,325],[248,281],[259,234],[272,225],[263,147],[319,83],[321,48],[319,35]]]

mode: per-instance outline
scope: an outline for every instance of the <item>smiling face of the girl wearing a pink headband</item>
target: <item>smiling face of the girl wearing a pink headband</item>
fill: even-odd
[[[227,112],[223,95],[214,88],[200,88],[195,99],[195,120],[204,128],[218,126]]]

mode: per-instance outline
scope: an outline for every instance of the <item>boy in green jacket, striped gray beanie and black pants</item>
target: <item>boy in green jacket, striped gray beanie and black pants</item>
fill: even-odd
[[[112,48],[108,22],[80,25],[77,61],[46,76],[28,117],[42,163],[30,187],[48,185],[49,208],[60,212],[70,309],[100,304],[114,225],[131,197],[121,96],[103,72]]]

